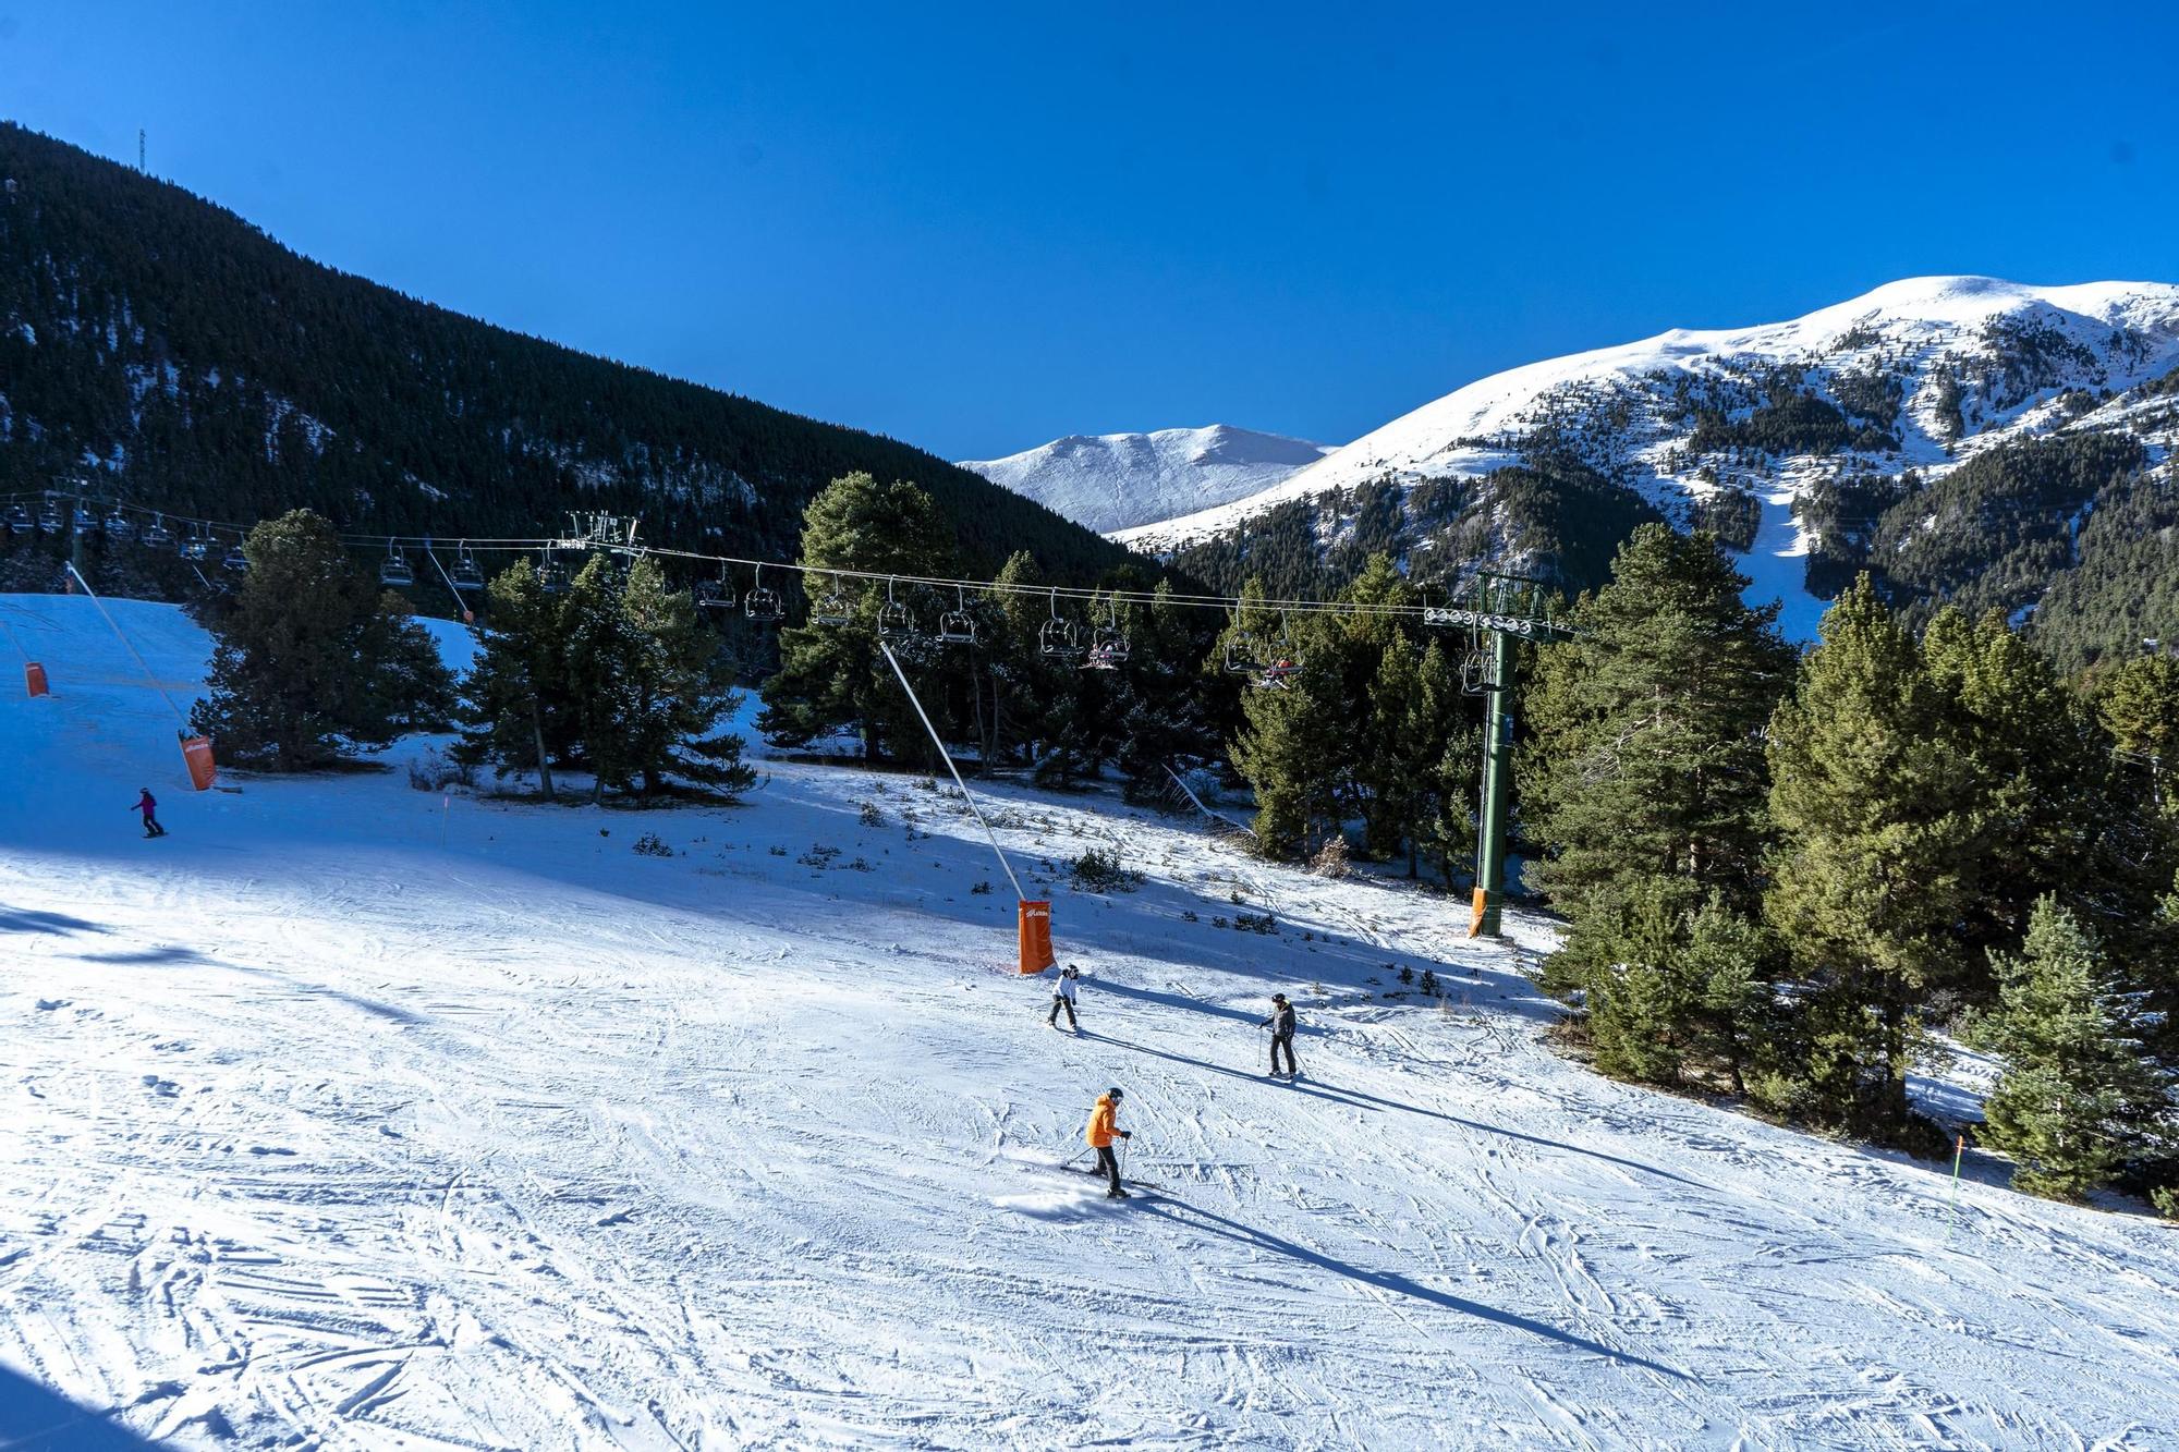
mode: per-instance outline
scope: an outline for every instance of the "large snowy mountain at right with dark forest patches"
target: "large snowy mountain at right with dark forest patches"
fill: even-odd
[[[2087,562],[2098,508],[2146,508],[2140,486],[2168,482],[2175,366],[2175,286],[1920,277],[1512,368],[1120,539],[1216,573],[1238,543],[1307,528],[1318,556],[1392,547],[1416,576],[1499,558],[1586,586],[1654,510],[1739,547],[1750,597],[1780,600],[1800,639],[1863,567],[1894,600],[2026,617]],[[1612,539],[1584,530],[1599,515]]]

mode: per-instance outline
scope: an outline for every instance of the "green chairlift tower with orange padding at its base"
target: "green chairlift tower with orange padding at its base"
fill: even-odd
[[[1506,835],[1512,818],[1512,685],[1514,643],[1571,634],[1551,617],[1551,593],[1543,580],[1477,573],[1462,602],[1429,606],[1423,624],[1464,628],[1471,661],[1462,689],[1486,695],[1482,807],[1475,820],[1475,907],[1469,937],[1497,937],[1506,907]],[[1488,654],[1484,637],[1490,637]]]

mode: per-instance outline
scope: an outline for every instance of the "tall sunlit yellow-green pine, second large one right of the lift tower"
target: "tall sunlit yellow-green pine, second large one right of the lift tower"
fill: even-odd
[[[1920,992],[1955,970],[1981,820],[1976,772],[1933,730],[1944,693],[1867,576],[1824,615],[1769,728],[1778,831],[1765,916],[1795,975],[1798,1110],[1907,1129]],[[1965,804],[1963,804],[1965,802]]]

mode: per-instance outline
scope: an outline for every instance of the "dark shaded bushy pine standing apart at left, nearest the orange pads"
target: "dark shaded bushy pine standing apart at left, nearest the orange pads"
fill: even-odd
[[[251,571],[214,621],[209,695],[190,713],[222,759],[299,772],[447,715],[453,680],[399,597],[379,597],[309,510],[251,530]]]

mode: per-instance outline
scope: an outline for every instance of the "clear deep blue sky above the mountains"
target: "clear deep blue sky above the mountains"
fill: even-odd
[[[1894,277],[2179,279],[2166,7],[0,0],[0,113],[952,458],[1344,443]]]

